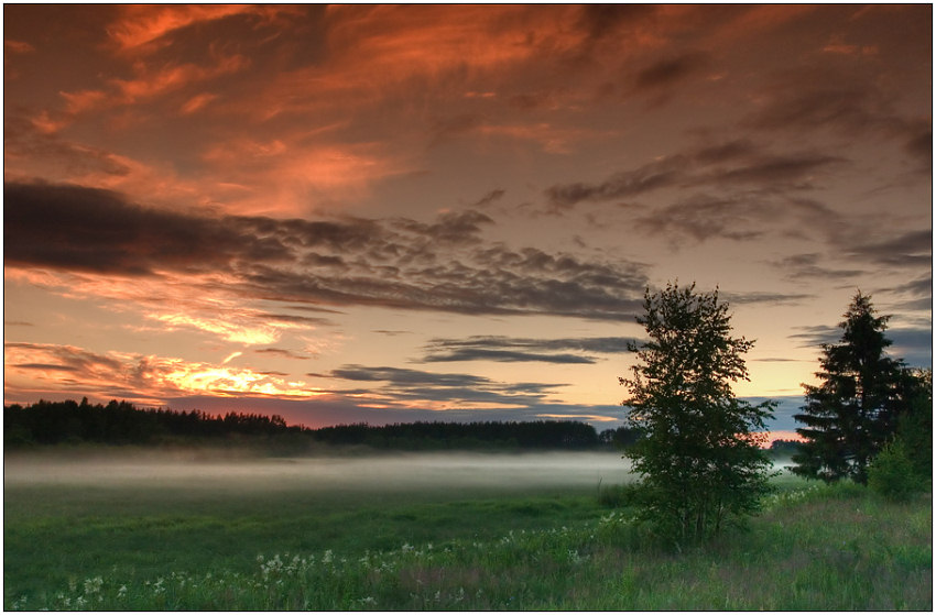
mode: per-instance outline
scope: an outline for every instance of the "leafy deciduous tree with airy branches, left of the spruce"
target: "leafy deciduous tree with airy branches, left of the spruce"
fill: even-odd
[[[686,542],[758,510],[771,463],[757,431],[775,404],[734,397],[731,384],[748,380],[741,355],[753,342],[730,336],[718,290],[647,289],[644,310],[636,320],[649,341],[631,344],[633,377],[620,378],[631,393],[628,421],[644,433],[627,457],[641,476],[641,517]]]

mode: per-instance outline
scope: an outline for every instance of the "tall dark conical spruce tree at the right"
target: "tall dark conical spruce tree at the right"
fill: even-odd
[[[870,296],[859,290],[844,317],[841,341],[823,344],[819,385],[803,385],[806,405],[794,418],[806,425],[796,429],[805,441],[792,470],[826,482],[867,484],[868,463],[894,435],[904,409],[903,364],[885,354],[890,316],[878,316]]]

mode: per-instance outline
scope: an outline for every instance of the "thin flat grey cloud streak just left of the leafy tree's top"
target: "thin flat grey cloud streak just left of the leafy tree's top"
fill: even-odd
[[[629,338],[565,338],[531,339],[503,336],[474,336],[467,339],[435,338],[426,344],[425,362],[446,361],[501,361],[543,363],[596,363],[590,355],[559,353],[577,352],[622,353],[628,352]]]

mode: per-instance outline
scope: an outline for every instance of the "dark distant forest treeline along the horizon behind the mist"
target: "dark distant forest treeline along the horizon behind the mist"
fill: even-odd
[[[3,407],[7,448],[50,444],[225,444],[301,452],[317,443],[391,450],[588,450],[622,449],[638,440],[624,427],[598,433],[578,421],[411,422],[339,425],[311,429],[274,415],[137,408],[128,402],[89,404],[87,398]]]

